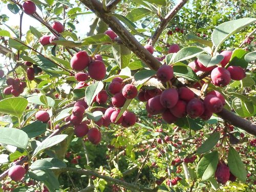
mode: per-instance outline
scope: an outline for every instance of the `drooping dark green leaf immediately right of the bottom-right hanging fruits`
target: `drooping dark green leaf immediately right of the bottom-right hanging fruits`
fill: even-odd
[[[243,182],[246,182],[246,169],[240,155],[233,147],[229,147],[227,163],[230,172]]]

